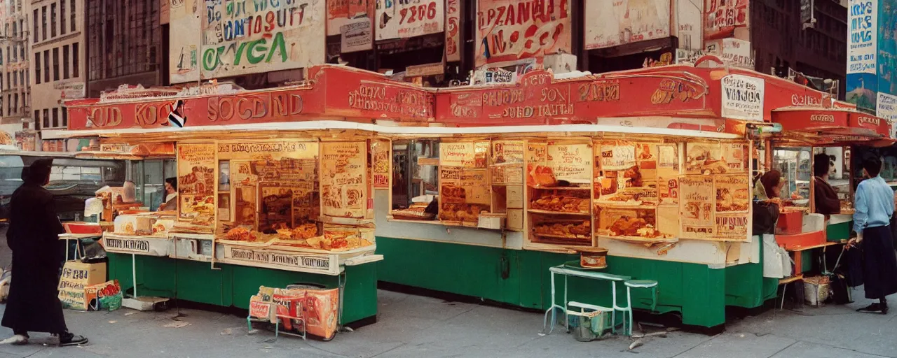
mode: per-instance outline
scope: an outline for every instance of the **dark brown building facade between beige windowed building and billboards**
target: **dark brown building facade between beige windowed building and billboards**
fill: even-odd
[[[162,2],[171,0],[84,0],[87,6],[87,92],[99,97],[119,85],[145,88],[167,83],[167,30]]]

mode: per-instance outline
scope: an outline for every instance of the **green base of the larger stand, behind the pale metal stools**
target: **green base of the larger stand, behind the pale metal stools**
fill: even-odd
[[[579,255],[382,236],[377,237],[377,253],[388,257],[378,263],[382,282],[540,311],[547,310],[552,302],[548,268],[579,260]],[[684,325],[702,328],[725,324],[727,306],[761,307],[776,297],[779,284],[776,278],[762,277],[762,263],[710,268],[694,263],[609,256],[607,264],[603,270],[607,273],[657,280],[658,305],[654,313],[674,314],[681,317]],[[555,280],[556,290],[561,293],[559,300],[563,282],[562,278]],[[569,277],[568,282],[570,301],[611,305],[609,283],[578,277]],[[625,288],[620,286],[617,297],[625,297]],[[637,310],[649,311],[647,290],[633,290],[632,304]]]

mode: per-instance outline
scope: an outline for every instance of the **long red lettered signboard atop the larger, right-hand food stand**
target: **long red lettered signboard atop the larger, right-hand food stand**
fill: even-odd
[[[707,82],[691,74],[553,81],[547,72],[534,71],[514,86],[447,91],[438,98],[437,122],[594,123],[597,117],[684,114],[705,111],[708,92]]]

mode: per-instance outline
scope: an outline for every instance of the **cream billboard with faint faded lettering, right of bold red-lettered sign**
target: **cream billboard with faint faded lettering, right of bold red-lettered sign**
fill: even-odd
[[[587,1],[587,50],[670,36],[670,0]]]

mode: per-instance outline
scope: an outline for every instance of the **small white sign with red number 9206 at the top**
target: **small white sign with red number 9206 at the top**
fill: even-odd
[[[376,0],[377,39],[414,38],[445,30],[445,0]]]

